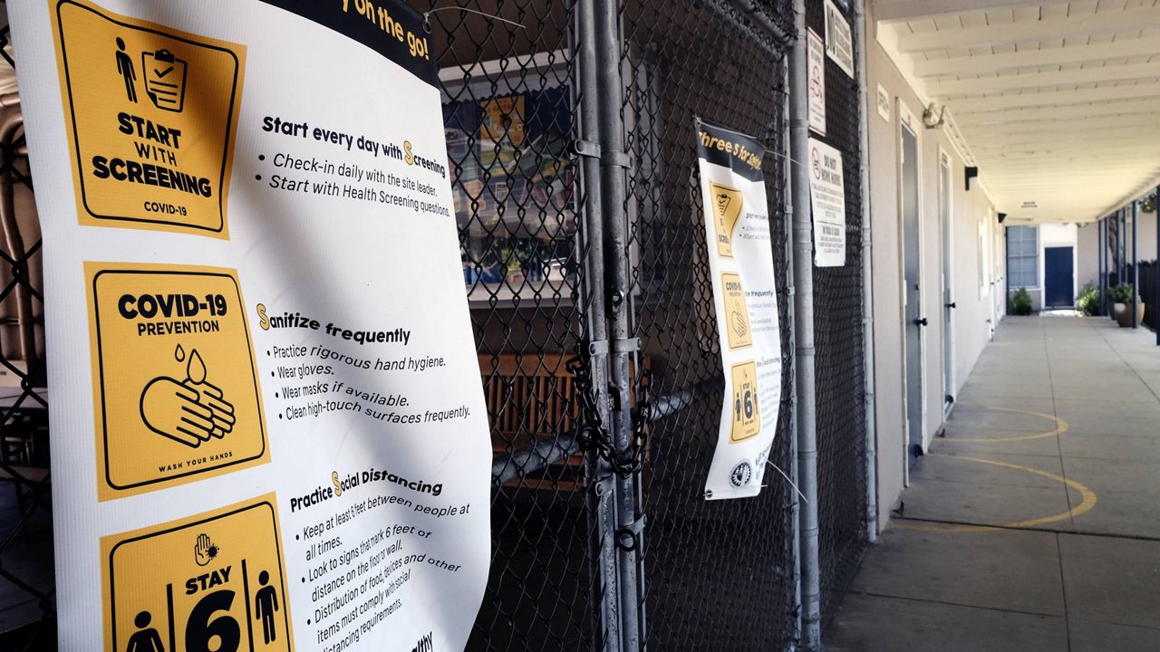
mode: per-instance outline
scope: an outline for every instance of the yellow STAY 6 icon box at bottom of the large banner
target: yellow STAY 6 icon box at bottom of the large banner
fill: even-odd
[[[104,649],[291,650],[275,504],[270,493],[102,537]]]

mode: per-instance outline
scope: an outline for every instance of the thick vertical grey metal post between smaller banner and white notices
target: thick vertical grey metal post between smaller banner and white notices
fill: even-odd
[[[793,0],[793,28],[805,34],[805,0]],[[802,564],[802,645],[821,649],[821,580],[818,565],[818,433],[813,350],[813,223],[810,209],[810,122],[806,38],[790,49],[790,153],[793,202],[793,336],[797,372],[798,481]]]

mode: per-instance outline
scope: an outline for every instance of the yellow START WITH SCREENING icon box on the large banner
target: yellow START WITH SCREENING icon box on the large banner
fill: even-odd
[[[84,0],[56,14],[80,223],[229,238],[245,46]]]

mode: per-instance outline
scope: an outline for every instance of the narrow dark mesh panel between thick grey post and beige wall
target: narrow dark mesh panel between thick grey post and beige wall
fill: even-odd
[[[851,19],[848,14],[844,17]],[[824,0],[807,0],[805,22],[807,28],[825,35]],[[856,39],[857,34],[853,37]],[[856,51],[856,41],[854,46]],[[828,607],[841,596],[865,549],[867,474],[858,183],[858,103],[863,99],[857,78],[847,74],[829,57],[825,75],[826,136],[820,139],[842,153],[846,186],[846,265],[813,268],[818,538],[821,610],[828,617],[833,614]],[[811,136],[819,138],[815,133]]]

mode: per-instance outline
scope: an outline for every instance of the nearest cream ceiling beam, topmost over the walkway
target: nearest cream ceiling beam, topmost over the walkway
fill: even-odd
[[[1158,26],[1160,26],[1160,6],[913,34],[899,30],[898,51],[913,55],[927,50],[985,48],[1045,38],[1137,31]]]

